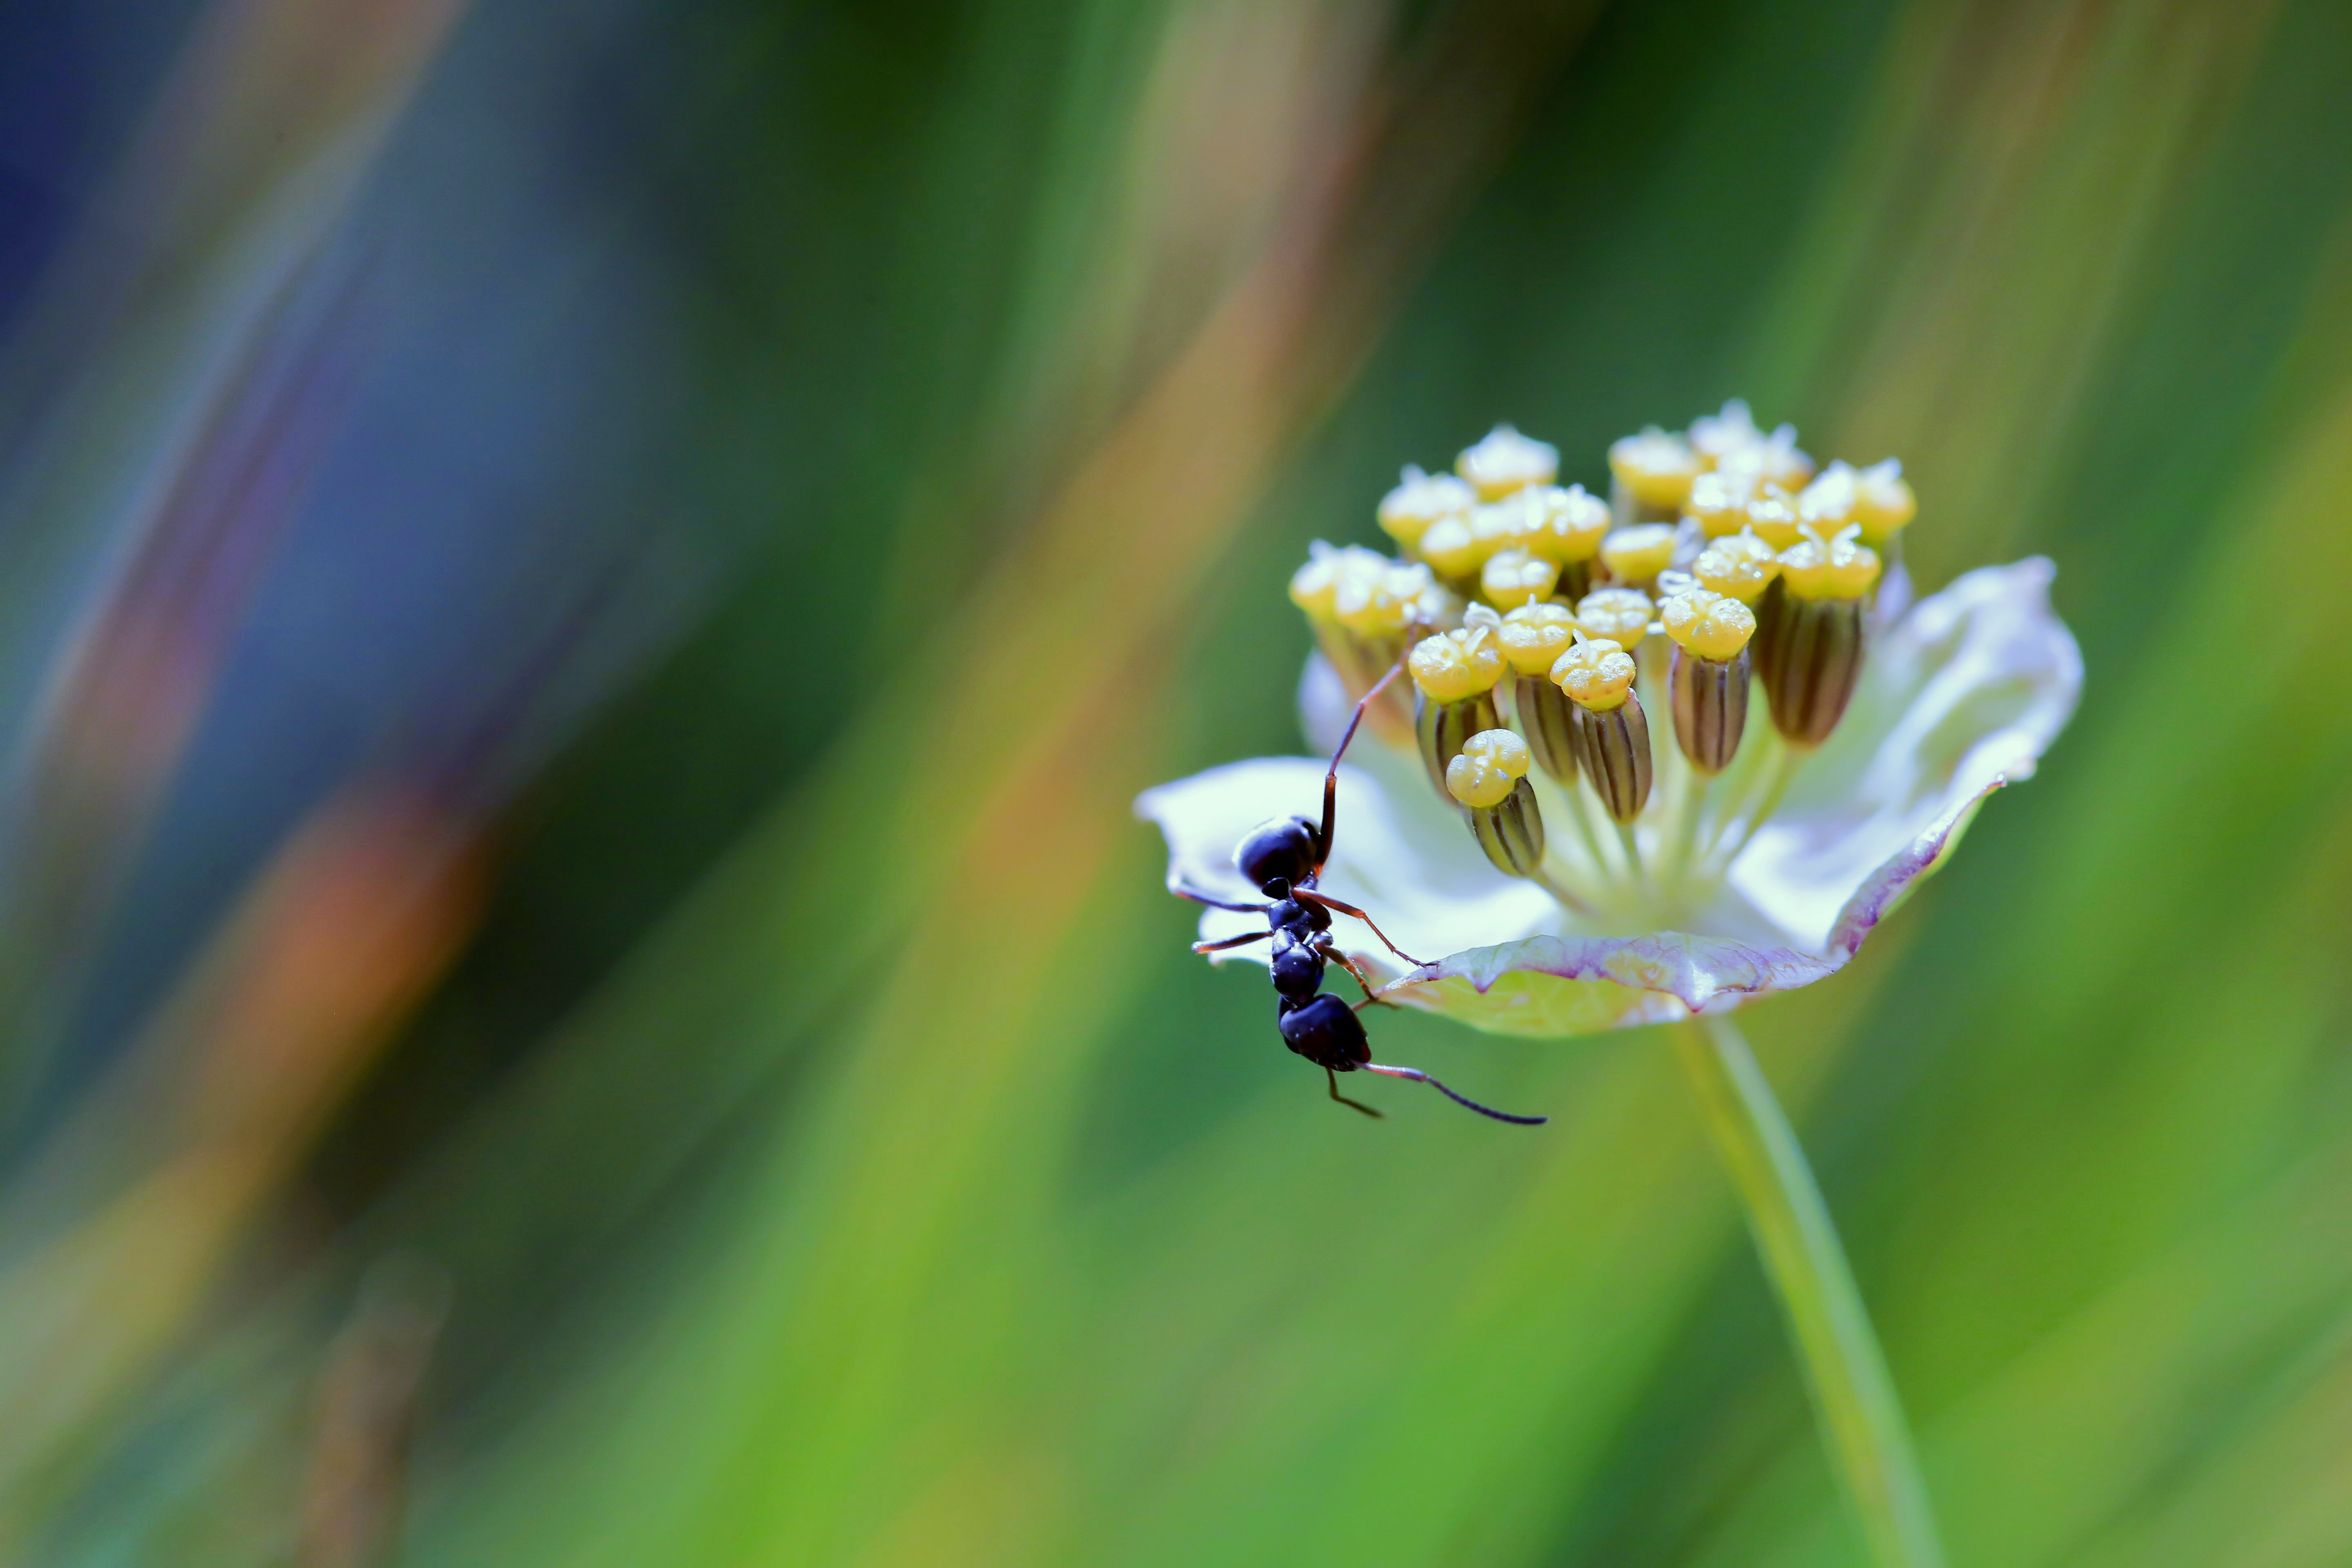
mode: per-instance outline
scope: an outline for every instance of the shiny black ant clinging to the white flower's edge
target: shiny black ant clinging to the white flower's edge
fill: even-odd
[[[1240,846],[1235,846],[1232,865],[1251,882],[1251,886],[1265,893],[1265,903],[1209,898],[1207,893],[1176,882],[1169,884],[1169,891],[1214,910],[1265,914],[1265,931],[1228,936],[1221,943],[1192,943],[1192,952],[1223,952],[1225,947],[1247,947],[1249,943],[1272,940],[1268,969],[1275,980],[1275,1023],[1282,1027],[1282,1044],[1324,1070],[1324,1079],[1331,1084],[1331,1098],[1341,1105],[1359,1110],[1374,1119],[1381,1117],[1374,1107],[1362,1100],[1350,1100],[1338,1091],[1341,1072],[1364,1070],[1381,1072],[1392,1079],[1428,1084],[1456,1105],[1465,1105],[1482,1117],[1494,1117],[1496,1121],[1541,1126],[1548,1117],[1512,1117],[1454,1093],[1421,1067],[1385,1067],[1371,1060],[1371,1039],[1364,1034],[1364,1020],[1357,1013],[1374,1001],[1381,1001],[1381,994],[1374,992],[1371,980],[1367,980],[1364,971],[1355,966],[1355,959],[1341,952],[1338,943],[1331,940],[1331,917],[1350,914],[1371,926],[1371,933],[1381,938],[1383,947],[1414,969],[1421,969],[1423,964],[1388,940],[1388,933],[1374,924],[1371,914],[1357,910],[1352,903],[1341,903],[1315,886],[1322,877],[1324,860],[1331,858],[1331,835],[1338,827],[1338,759],[1348,755],[1348,743],[1355,741],[1355,729],[1364,722],[1364,708],[1381,696],[1381,689],[1388,686],[1388,682],[1397,679],[1397,670],[1402,668],[1404,661],[1399,658],[1388,675],[1374,682],[1371,691],[1357,698],[1355,717],[1348,719],[1348,733],[1341,736],[1338,750],[1331,752],[1331,769],[1324,773],[1322,823],[1303,816],[1277,816],[1251,827],[1242,837]],[[1355,976],[1355,983],[1364,990],[1364,999],[1355,1006],[1322,990],[1324,964],[1331,961]],[[1395,1001],[1383,1001],[1383,1006],[1395,1006]]]

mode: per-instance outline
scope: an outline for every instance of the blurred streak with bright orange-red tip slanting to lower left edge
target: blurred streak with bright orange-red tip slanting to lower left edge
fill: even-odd
[[[230,1248],[473,929],[468,827],[400,790],[320,809],[118,1079],[19,1182],[0,1274],[0,1530],[207,1302]]]

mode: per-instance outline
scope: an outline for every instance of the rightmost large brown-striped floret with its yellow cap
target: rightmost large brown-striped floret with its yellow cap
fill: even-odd
[[[1757,625],[1757,677],[1771,698],[1771,722],[1790,745],[1830,738],[1863,675],[1863,595],[1879,557],[1846,524],[1823,543],[1809,534],[1780,552],[1780,585],[1764,597]]]

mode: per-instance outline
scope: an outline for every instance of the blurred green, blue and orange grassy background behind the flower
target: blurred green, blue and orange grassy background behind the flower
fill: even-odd
[[[2082,715],[1743,1018],[1964,1568],[2352,1563],[2352,12],[0,7],[7,1563],[1858,1563],[1663,1039],[1136,790],[1729,395]]]

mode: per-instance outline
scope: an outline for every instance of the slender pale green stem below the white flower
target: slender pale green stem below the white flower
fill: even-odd
[[[1830,1462],[1870,1542],[1870,1561],[1940,1568],[1943,1547],[1903,1406],[1795,1128],[1729,1018],[1677,1027],[1675,1053],[1788,1312]]]

